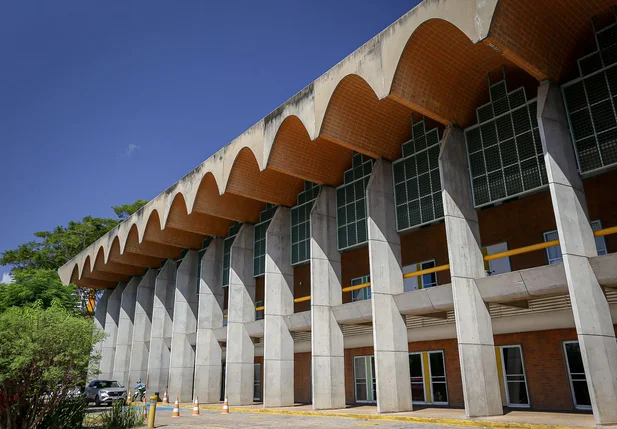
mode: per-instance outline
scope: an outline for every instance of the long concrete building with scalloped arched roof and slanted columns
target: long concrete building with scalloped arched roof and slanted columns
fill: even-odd
[[[616,17],[418,5],[59,270],[102,373],[617,423]]]

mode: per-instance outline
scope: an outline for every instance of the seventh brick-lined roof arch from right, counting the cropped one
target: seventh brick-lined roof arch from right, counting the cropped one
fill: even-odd
[[[189,214],[184,195],[179,192],[174,196],[167,213],[165,228],[220,237],[226,235],[231,223],[228,219],[195,211]]]

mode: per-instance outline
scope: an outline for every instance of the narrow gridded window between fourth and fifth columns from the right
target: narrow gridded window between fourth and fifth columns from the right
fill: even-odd
[[[309,262],[311,258],[311,210],[320,186],[304,182],[297,204],[291,208],[291,265]]]

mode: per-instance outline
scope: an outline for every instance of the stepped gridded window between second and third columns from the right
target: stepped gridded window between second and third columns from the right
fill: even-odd
[[[439,130],[426,131],[422,121],[413,125],[412,132],[412,140],[403,144],[403,158],[392,164],[398,231],[443,217]]]

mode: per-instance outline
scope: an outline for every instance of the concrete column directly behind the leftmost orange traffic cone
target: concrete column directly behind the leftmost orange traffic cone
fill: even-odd
[[[193,400],[197,337],[197,251],[189,250],[176,272],[176,297],[169,361],[169,395]]]

